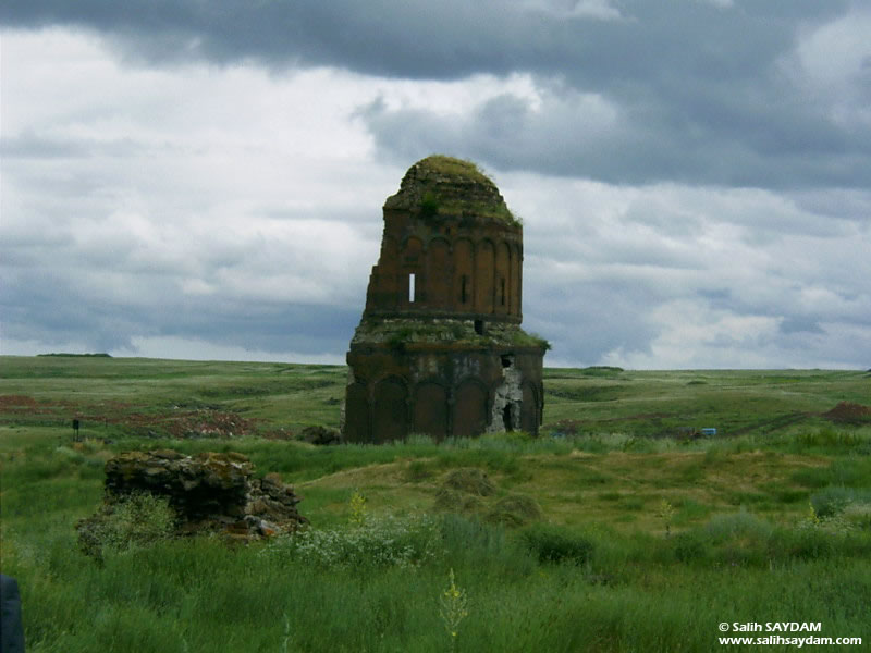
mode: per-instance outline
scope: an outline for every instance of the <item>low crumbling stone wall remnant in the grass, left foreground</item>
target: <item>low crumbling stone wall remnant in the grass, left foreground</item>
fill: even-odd
[[[236,453],[119,454],[106,463],[103,506],[79,522],[79,540],[87,549],[87,533],[135,493],[167,497],[177,517],[176,535],[217,532],[247,542],[294,531],[308,521],[296,509],[302,497],[279,475],[256,479],[253,472],[250,460]]]

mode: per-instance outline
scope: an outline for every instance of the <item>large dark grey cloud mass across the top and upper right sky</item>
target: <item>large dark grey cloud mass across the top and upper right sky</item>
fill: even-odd
[[[13,0],[0,20],[96,30],[144,65],[255,61],[275,71],[330,65],[410,79],[527,73],[547,87],[538,108],[501,96],[458,116],[379,103],[361,110],[379,148],[403,161],[450,151],[499,170],[618,184],[867,185],[871,128],[861,107],[871,104],[871,66],[855,66],[844,99],[827,79],[808,77],[796,50],[859,4],[613,7]]]

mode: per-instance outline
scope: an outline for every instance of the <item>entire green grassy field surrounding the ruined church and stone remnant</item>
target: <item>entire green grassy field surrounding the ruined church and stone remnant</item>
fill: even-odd
[[[871,641],[871,422],[835,409],[871,404],[871,374],[549,369],[538,439],[297,441],[338,426],[345,375],[0,357],[0,559],[21,583],[28,650],[796,648],[722,646],[724,621]],[[687,436],[701,428],[717,435]],[[296,485],[310,529],[97,565],[74,525],[100,503],[105,460],[162,447],[248,455]],[[488,492],[452,481],[480,472]]]

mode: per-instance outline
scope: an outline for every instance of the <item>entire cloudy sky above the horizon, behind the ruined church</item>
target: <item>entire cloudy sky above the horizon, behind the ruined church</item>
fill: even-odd
[[[554,366],[871,367],[871,3],[5,0],[0,350],[342,362],[433,153]]]

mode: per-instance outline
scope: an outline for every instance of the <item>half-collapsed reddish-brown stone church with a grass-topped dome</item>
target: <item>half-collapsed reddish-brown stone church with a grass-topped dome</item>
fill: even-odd
[[[537,433],[545,341],[520,329],[523,227],[468,161],[418,161],[384,232],[347,354],[347,442]]]

